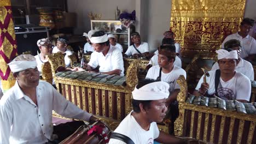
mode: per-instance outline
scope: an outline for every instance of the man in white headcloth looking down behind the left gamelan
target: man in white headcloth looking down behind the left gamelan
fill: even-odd
[[[99,72],[108,75],[124,75],[124,60],[117,47],[109,44],[107,34],[103,31],[95,32],[89,37],[95,51],[91,53],[90,62],[84,68],[90,72],[100,66]]]

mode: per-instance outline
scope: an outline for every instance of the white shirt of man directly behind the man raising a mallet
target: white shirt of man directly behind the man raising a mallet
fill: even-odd
[[[219,69],[218,62],[214,63],[212,66],[212,70]],[[245,59],[240,58],[240,62],[237,64],[236,69],[237,72],[242,73],[247,76],[250,80],[254,80],[254,72],[252,64]]]

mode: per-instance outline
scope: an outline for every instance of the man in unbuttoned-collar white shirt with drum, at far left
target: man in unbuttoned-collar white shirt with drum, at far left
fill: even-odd
[[[53,126],[53,110],[68,118],[97,120],[67,101],[50,83],[39,81],[34,56],[20,55],[8,65],[16,83],[0,100],[0,143],[46,143],[56,135],[62,141],[84,124],[75,121]]]

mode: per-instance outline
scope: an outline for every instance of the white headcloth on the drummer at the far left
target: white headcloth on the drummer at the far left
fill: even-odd
[[[10,63],[8,63],[10,70],[13,73],[25,70],[25,69],[30,69],[30,68],[36,68],[37,67],[37,61],[34,56],[30,54],[26,55],[20,55],[16,58],[13,59]]]

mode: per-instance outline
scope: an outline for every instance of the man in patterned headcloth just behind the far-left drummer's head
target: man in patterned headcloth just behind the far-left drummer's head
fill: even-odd
[[[51,41],[49,38],[39,39],[37,41],[37,46],[39,47],[40,53],[36,56],[37,61],[37,69],[39,73],[41,73],[42,64],[48,62],[48,58],[46,55],[50,55],[53,51],[53,45],[51,45]]]

